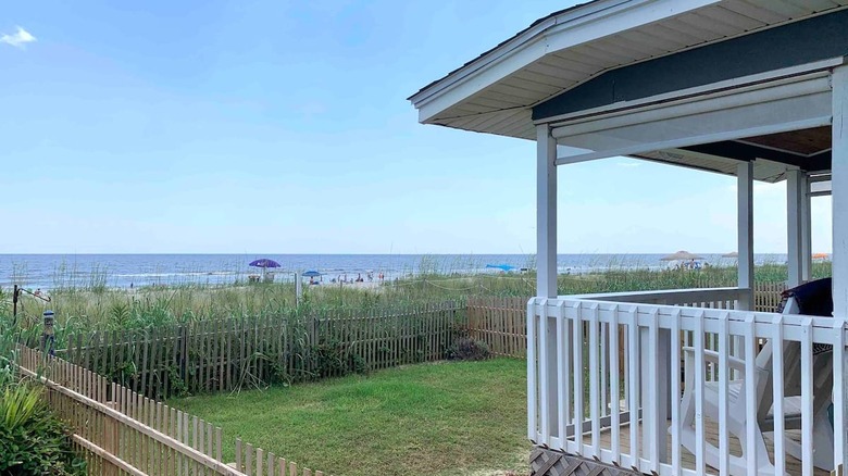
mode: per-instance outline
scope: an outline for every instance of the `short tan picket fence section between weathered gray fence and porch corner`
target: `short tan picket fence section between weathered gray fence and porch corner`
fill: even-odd
[[[527,354],[527,299],[469,298],[469,337],[486,342],[495,355]]]

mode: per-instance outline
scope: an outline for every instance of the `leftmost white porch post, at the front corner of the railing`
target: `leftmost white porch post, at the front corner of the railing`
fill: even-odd
[[[536,296],[539,298],[557,297],[556,161],[557,140],[551,135],[551,127],[547,124],[536,126]],[[548,436],[559,436],[560,427],[557,404],[557,318],[547,317],[547,323],[539,322],[539,327],[536,334],[540,339],[539,400],[543,441],[547,441]]]

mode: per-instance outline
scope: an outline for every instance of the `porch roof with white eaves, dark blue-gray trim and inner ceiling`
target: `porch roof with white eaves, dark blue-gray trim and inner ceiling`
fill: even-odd
[[[536,124],[558,115],[626,109],[699,80],[732,82],[848,54],[839,27],[846,9],[848,0],[595,0],[534,22],[409,99],[424,124],[534,140]],[[826,16],[833,25],[813,20]],[[776,28],[783,26],[789,28]],[[751,61],[728,60],[727,50],[746,51]],[[713,60],[727,64],[706,79],[691,72]],[[830,170],[830,148],[824,126],[635,156],[729,175],[737,161],[753,161],[755,178],[777,181],[790,168]]]

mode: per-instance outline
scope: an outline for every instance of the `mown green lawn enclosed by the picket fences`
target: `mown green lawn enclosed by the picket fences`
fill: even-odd
[[[526,474],[526,362],[444,362],[170,404],[335,476]]]

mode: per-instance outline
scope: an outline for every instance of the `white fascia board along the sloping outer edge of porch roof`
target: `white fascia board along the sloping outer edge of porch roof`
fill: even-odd
[[[549,18],[410,98],[426,123],[548,53],[636,28],[720,0],[608,0]]]

